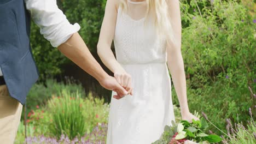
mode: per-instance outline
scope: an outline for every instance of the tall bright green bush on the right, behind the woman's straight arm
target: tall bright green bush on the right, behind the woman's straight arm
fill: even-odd
[[[203,5],[200,11],[197,4]],[[226,118],[246,122],[245,113],[254,105],[248,86],[255,91],[255,23],[236,1],[207,4],[182,1],[182,17],[189,23],[182,35],[188,102],[191,110],[204,111],[225,129]],[[173,97],[178,104],[174,91]]]

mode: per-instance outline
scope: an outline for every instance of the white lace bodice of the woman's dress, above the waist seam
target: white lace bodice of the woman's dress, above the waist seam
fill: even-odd
[[[147,22],[145,22],[147,21]],[[114,35],[117,61],[121,64],[163,63],[167,61],[166,40],[159,39],[152,17],[133,19],[118,9]]]

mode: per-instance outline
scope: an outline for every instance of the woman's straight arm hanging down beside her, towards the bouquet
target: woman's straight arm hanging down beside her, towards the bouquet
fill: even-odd
[[[198,119],[189,112],[187,101],[187,87],[185,79],[184,62],[181,53],[181,11],[179,10],[178,0],[168,0],[168,11],[172,24],[175,43],[167,43],[167,63],[172,75],[172,80],[176,93],[178,95],[179,104],[181,105],[182,118],[188,121]]]

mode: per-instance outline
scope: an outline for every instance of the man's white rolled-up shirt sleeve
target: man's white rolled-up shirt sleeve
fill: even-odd
[[[33,21],[40,27],[40,33],[53,47],[65,43],[80,29],[78,23],[69,23],[56,0],[25,0],[25,3]]]

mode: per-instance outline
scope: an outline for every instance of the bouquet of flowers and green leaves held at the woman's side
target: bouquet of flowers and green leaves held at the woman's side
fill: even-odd
[[[214,134],[206,134],[208,124],[204,118],[200,121],[189,123],[181,121],[176,124],[172,121],[172,126],[166,125],[165,131],[161,138],[153,144],[206,144],[217,143],[222,141],[222,138]]]

